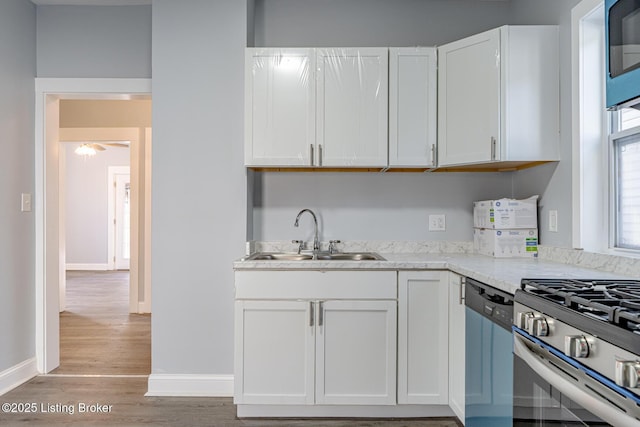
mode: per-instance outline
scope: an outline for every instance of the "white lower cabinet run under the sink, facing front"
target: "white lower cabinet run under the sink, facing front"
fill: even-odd
[[[464,419],[450,396],[461,380],[464,398],[464,317],[456,318],[462,329],[450,319],[459,310],[452,277],[236,271],[238,415]],[[449,375],[462,377],[450,383]]]

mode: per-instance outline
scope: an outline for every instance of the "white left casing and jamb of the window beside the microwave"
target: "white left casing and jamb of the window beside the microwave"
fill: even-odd
[[[594,42],[601,45],[599,51]],[[571,10],[572,246],[600,253],[609,251],[603,64],[604,1],[582,0]]]

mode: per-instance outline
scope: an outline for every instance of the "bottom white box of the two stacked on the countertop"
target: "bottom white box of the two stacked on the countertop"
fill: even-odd
[[[496,258],[535,258],[538,256],[538,229],[473,230],[477,253]]]

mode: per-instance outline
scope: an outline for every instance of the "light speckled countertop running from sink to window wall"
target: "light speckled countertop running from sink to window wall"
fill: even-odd
[[[470,253],[384,253],[385,261],[242,261],[236,270],[451,270],[509,293],[523,278],[623,279],[620,274],[539,258],[492,258]]]

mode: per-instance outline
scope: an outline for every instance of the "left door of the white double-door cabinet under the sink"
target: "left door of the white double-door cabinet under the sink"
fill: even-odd
[[[312,404],[311,303],[236,301],[235,403]]]

